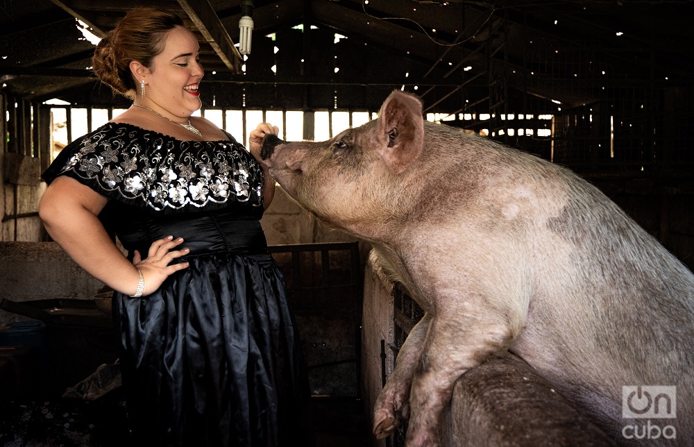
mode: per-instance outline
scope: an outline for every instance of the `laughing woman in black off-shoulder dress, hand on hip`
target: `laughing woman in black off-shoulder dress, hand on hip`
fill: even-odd
[[[40,216],[115,290],[135,441],[303,443],[301,346],[259,222],[274,181],[255,158],[278,128],[259,124],[248,153],[191,117],[201,107],[198,51],[172,12],[121,19],[96,47],[94,71],[133,106],[58,155]]]

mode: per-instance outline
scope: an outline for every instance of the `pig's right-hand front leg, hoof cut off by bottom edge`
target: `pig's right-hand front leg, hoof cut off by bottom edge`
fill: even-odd
[[[443,408],[456,380],[491,353],[509,346],[508,321],[489,319],[489,312],[477,315],[473,306],[465,307],[443,310],[430,323],[409,396],[408,447],[439,446]]]

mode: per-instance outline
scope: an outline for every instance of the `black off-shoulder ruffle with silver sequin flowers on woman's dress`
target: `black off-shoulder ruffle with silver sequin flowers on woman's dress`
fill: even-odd
[[[105,191],[157,211],[230,200],[263,204],[262,168],[236,142],[186,142],[110,123],[74,144],[60,174],[96,180]]]

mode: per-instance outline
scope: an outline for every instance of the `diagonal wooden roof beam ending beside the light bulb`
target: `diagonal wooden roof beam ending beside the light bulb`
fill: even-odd
[[[198,27],[217,56],[231,71],[239,73],[243,59],[226,32],[209,0],[178,0],[180,6]]]

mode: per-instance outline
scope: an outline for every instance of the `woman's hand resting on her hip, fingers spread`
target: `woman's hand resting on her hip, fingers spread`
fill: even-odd
[[[183,244],[183,237],[174,239],[173,236],[167,236],[163,239],[158,239],[152,242],[152,245],[149,247],[149,253],[147,253],[147,257],[144,259],[142,259],[139,251],[135,250],[133,265],[142,272],[142,277],[144,278],[144,291],[142,292],[142,296],[153,293],[172,273],[187,269],[189,266],[188,262],[169,265],[172,260],[189,253],[189,248],[171,251],[172,248],[176,248],[180,244]],[[139,275],[137,275],[137,271],[135,271],[135,281],[133,282],[135,289],[133,289],[131,295],[135,294],[138,282]]]

